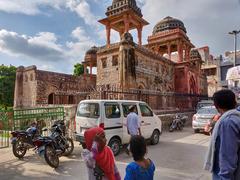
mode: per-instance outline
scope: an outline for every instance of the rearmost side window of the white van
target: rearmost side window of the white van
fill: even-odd
[[[108,119],[120,118],[119,104],[105,103],[105,115]]]

